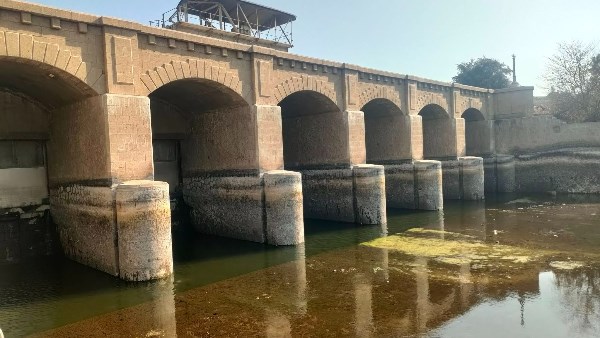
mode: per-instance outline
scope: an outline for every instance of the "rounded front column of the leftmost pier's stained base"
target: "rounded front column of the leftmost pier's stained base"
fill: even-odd
[[[169,185],[129,181],[116,188],[119,276],[128,281],[173,273]]]

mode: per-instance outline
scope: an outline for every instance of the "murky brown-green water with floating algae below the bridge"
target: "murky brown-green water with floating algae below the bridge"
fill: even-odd
[[[0,267],[0,328],[39,336],[600,336],[600,199],[520,196],[307,222],[306,245],[180,234],[171,280]],[[409,230],[410,229],[410,230]],[[407,231],[408,230],[408,231]]]

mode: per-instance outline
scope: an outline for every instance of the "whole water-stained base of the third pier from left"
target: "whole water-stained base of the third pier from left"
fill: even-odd
[[[306,218],[358,224],[385,224],[385,173],[380,165],[303,170]]]

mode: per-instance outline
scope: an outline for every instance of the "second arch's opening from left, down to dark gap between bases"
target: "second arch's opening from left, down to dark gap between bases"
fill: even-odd
[[[179,224],[193,223],[207,232],[218,222],[209,217],[208,209],[219,203],[210,184],[256,173],[254,114],[238,93],[204,79],[173,81],[149,97],[154,178],[169,183],[173,229],[189,230]]]

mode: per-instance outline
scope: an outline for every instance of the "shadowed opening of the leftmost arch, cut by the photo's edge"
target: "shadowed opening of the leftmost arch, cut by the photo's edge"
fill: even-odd
[[[63,70],[0,58],[0,263],[58,247],[52,187],[104,177],[88,170],[95,154],[85,149],[99,135],[97,116],[77,106],[96,95]]]

